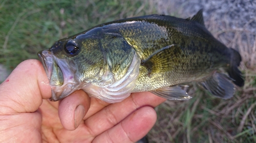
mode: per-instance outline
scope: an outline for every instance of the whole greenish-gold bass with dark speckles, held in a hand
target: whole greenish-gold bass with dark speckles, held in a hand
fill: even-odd
[[[229,99],[244,85],[240,53],[212,36],[202,9],[186,19],[153,14],[99,24],[58,40],[38,57],[53,101],[79,89],[109,103],[137,92],[187,100],[183,87],[189,82]]]

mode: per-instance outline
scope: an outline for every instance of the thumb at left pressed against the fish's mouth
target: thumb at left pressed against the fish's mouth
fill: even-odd
[[[0,113],[34,112],[51,97],[47,75],[38,60],[20,63],[0,84]]]

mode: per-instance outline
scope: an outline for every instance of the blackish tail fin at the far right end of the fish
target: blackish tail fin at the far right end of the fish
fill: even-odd
[[[227,70],[228,75],[233,79],[233,83],[239,87],[243,87],[244,79],[242,77],[241,71],[238,69],[240,62],[242,60],[241,55],[238,51],[229,48],[231,59],[230,59],[230,68]]]

